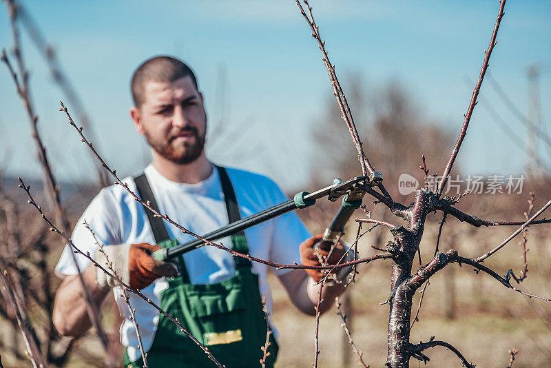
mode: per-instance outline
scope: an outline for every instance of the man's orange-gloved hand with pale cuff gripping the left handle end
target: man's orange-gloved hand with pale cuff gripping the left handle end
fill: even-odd
[[[112,263],[116,276],[121,278],[123,283],[139,290],[151,285],[157,278],[178,274],[174,263],[161,262],[152,257],[158,249],[162,248],[147,243],[109,245],[103,247],[103,251],[97,249],[94,258],[109,270],[108,259]],[[98,267],[96,267],[96,283],[102,290],[109,290],[117,285],[114,278],[107,276]]]

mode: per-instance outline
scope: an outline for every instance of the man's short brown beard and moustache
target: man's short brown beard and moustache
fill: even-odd
[[[178,134],[182,132],[193,132],[195,142],[185,142],[183,146],[178,145],[175,149],[172,142],[176,139]],[[147,143],[149,143],[158,154],[174,163],[183,165],[196,161],[205,147],[205,135],[200,136],[195,127],[185,127],[182,130],[171,132],[164,141],[156,141],[148,132],[144,132],[144,135],[145,139],[147,139]]]

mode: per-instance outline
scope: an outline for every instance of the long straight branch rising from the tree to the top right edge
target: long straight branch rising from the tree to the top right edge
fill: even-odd
[[[500,0],[499,1],[499,12],[497,13],[497,20],[495,21],[494,25],[494,32],[492,33],[492,38],[490,39],[490,45],[488,45],[488,50],[485,50],[484,53],[486,54],[486,57],[484,57],[484,63],[482,63],[482,68],[480,70],[480,76],[477,81],[477,85],[475,85],[475,90],[472,92],[472,98],[470,99],[469,108],[467,110],[467,113],[465,114],[465,120],[463,123],[463,127],[461,127],[461,132],[459,133],[459,137],[457,138],[457,142],[455,143],[455,147],[453,147],[453,152],[450,156],[450,159],[446,165],[446,169],[444,169],[444,174],[442,174],[442,178],[440,179],[440,182],[438,183],[438,194],[441,194],[444,190],[444,187],[446,186],[446,182],[448,181],[448,176],[450,175],[450,172],[452,171],[453,163],[455,162],[455,159],[457,158],[457,154],[459,153],[459,148],[461,148],[461,143],[463,143],[463,140],[465,139],[465,136],[467,134],[467,128],[470,122],[470,117],[472,116],[472,110],[475,110],[475,105],[477,105],[477,96],[480,92],[480,88],[482,85],[482,81],[484,81],[484,74],[486,74],[486,70],[488,69],[488,63],[490,61],[490,55],[492,54],[492,50],[494,49],[494,46],[496,45],[496,37],[497,37],[497,31],[499,30],[499,23],[501,23],[501,18],[503,18],[503,9],[505,8],[505,2],[506,0]]]

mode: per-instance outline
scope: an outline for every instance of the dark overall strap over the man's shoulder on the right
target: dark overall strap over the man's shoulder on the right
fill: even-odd
[[[236,192],[233,190],[233,185],[229,180],[228,174],[224,167],[216,166],[218,168],[218,175],[220,176],[220,184],[222,185],[222,192],[224,193],[224,201],[226,202],[226,210],[228,212],[229,223],[234,223],[241,219],[239,214],[239,206],[237,204]],[[245,232],[240,232],[230,236],[232,249],[236,252],[243,254],[249,253],[249,245],[247,244],[247,237]],[[251,267],[251,261],[243,257],[234,257],[237,268]]]

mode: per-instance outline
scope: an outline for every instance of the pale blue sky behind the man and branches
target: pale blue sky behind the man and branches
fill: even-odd
[[[212,159],[269,174],[286,189],[306,183],[315,154],[313,123],[325,111],[331,85],[293,0],[23,3],[84,101],[94,145],[121,174],[136,174],[147,161],[147,147],[128,116],[130,74],[154,54],[174,54],[196,70],[214,132],[224,112],[224,137],[210,137]],[[311,5],[342,79],[360,73],[368,88],[400,81],[428,119],[459,132],[472,94],[465,81],[472,84],[479,74],[497,1],[312,0]],[[545,120],[551,116],[551,1],[509,0],[505,12],[489,70],[526,113],[526,68],[539,65]],[[9,50],[4,3],[0,19],[0,47]],[[32,98],[54,170],[61,179],[90,180],[89,154],[57,111],[65,96],[22,33]],[[7,176],[37,176],[29,123],[8,71],[0,66],[1,165]],[[524,139],[525,128],[489,84],[481,96]],[[459,164],[469,174],[522,172],[525,152],[499,130],[482,104],[472,117]],[[300,144],[293,140],[297,136]],[[542,154],[550,158],[548,151]]]

